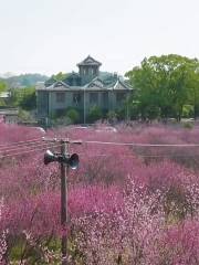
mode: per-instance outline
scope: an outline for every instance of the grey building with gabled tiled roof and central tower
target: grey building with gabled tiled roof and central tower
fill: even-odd
[[[77,64],[78,73],[72,72],[63,81],[51,77],[45,83],[39,83],[38,117],[49,118],[75,108],[82,121],[86,123],[93,106],[100,107],[104,114],[121,108],[133,88],[116,74],[103,80],[101,65],[87,56]]]

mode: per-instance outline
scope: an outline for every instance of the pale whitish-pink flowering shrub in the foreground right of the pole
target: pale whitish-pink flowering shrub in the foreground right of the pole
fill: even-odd
[[[149,248],[164,224],[157,191],[148,197],[129,182],[114,211],[96,210],[73,220],[74,244],[83,264],[149,264]],[[153,251],[153,250],[150,250]]]

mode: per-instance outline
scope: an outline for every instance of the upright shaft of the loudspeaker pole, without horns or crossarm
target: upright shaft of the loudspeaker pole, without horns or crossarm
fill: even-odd
[[[61,155],[67,155],[66,144],[61,141]],[[61,162],[61,226],[62,226],[62,265],[67,264],[67,236],[66,236],[66,225],[67,225],[67,186],[66,186],[66,173],[69,166]]]

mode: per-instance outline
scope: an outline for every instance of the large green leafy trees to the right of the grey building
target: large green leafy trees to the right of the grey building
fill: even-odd
[[[128,115],[142,120],[199,116],[199,61],[169,54],[144,59],[125,74],[134,92]]]

